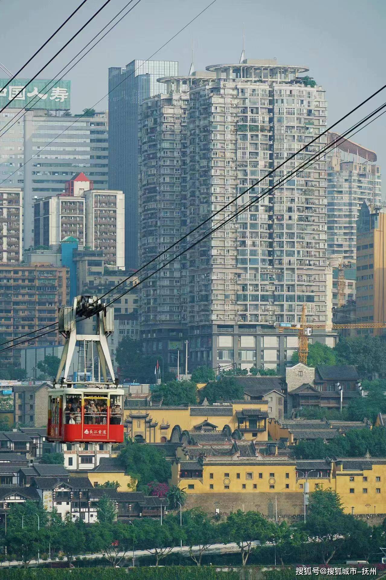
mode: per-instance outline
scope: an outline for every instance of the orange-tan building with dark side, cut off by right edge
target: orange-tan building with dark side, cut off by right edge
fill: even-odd
[[[366,201],[356,230],[356,317],[362,322],[384,322],[386,316],[386,213]],[[383,335],[383,328],[356,331]]]

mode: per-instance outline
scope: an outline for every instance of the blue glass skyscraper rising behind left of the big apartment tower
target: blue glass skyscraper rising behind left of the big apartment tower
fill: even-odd
[[[177,61],[133,60],[108,70],[108,187],[125,195],[126,268],[138,267],[138,129],[143,99],[165,92],[157,79],[177,75]]]

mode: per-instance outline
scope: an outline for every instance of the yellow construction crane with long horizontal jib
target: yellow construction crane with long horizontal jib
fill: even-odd
[[[305,304],[301,309],[301,317],[300,322],[292,323],[292,322],[276,322],[275,327],[278,329],[279,332],[283,332],[285,330],[294,330],[297,331],[297,347],[298,347],[298,357],[299,362],[303,362],[303,364],[307,364],[307,356],[308,356],[308,339],[309,336],[312,335],[312,330],[314,328],[322,328],[325,330],[340,330],[343,328],[386,328],[386,322],[354,322],[354,324],[343,323],[343,324],[310,324],[307,322],[307,318],[305,316]]]

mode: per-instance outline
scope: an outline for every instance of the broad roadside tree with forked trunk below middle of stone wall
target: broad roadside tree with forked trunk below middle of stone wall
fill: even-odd
[[[268,522],[259,512],[241,510],[232,512],[224,524],[220,524],[223,541],[235,542],[241,552],[242,565],[245,566],[252,551],[252,542],[267,542],[274,535],[274,524]]]

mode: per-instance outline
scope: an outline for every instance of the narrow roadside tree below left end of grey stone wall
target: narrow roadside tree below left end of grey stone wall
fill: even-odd
[[[216,541],[216,526],[206,512],[195,508],[183,513],[183,527],[188,538],[189,555],[198,566],[201,566],[203,554]],[[193,546],[197,548],[194,550]]]

